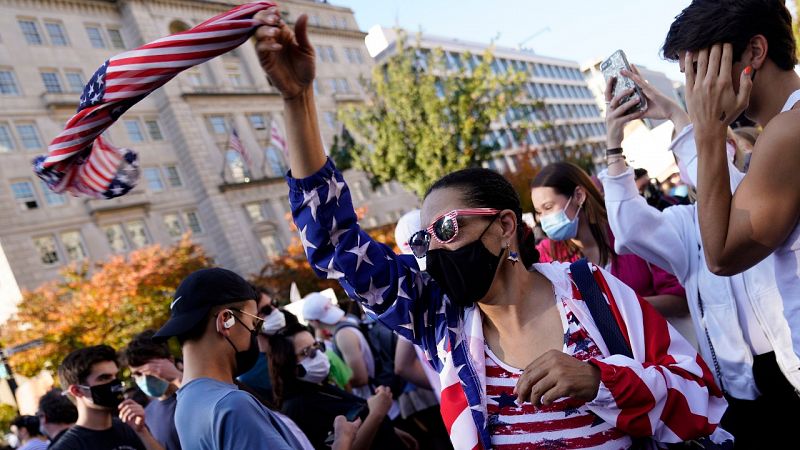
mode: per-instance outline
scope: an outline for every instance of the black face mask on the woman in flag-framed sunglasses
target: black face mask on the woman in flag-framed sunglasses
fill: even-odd
[[[458,250],[428,250],[427,272],[456,305],[472,306],[492,287],[503,252],[494,255],[483,245],[481,238],[486,230],[474,242]]]

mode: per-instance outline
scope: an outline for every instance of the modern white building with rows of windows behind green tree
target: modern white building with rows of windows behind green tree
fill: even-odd
[[[419,36],[422,52],[441,49],[447,69],[474,64],[488,48],[486,44],[430,35]],[[397,43],[395,30],[373,27],[367,49],[380,62],[391,55]],[[514,70],[526,74],[525,98],[492,125],[490,142],[500,149],[488,162],[499,172],[516,172],[523,158],[542,167],[565,155],[591,155],[597,163],[605,149],[605,120],[597,107],[577,62],[538,55],[530,50],[495,46],[492,71]],[[472,61],[467,60],[467,54]],[[424,58],[421,58],[424,59]],[[520,122],[534,127],[519,136],[511,132]]]

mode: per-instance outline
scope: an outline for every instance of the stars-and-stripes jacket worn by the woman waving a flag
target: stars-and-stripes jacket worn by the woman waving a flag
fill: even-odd
[[[442,381],[441,412],[456,450],[491,448],[483,328],[477,307],[451,303],[410,255],[396,255],[357,223],[349,189],[329,160],[316,174],[287,177],[292,216],[318,276],[336,279],[395,332],[422,348]],[[586,328],[604,358],[597,397],[587,404],[634,437],[673,443],[712,435],[727,403],[694,348],[645,300],[602,269],[594,276],[628,339],[634,359],[609,355],[565,263],[534,264]]]

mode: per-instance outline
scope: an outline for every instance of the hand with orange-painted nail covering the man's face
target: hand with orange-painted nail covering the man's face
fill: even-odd
[[[728,125],[747,108],[753,88],[752,66],[738,74],[739,92],[734,90],[733,46],[715,44],[694,55],[686,52],[686,103],[697,134],[712,133],[724,139]]]

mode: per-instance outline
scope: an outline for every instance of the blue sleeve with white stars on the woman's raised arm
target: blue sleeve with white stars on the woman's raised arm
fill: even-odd
[[[292,217],[317,276],[338,280],[369,314],[434,350],[436,336],[446,330],[443,295],[414,257],[395,254],[361,229],[350,190],[333,162],[308,178],[290,174],[287,181]]]

